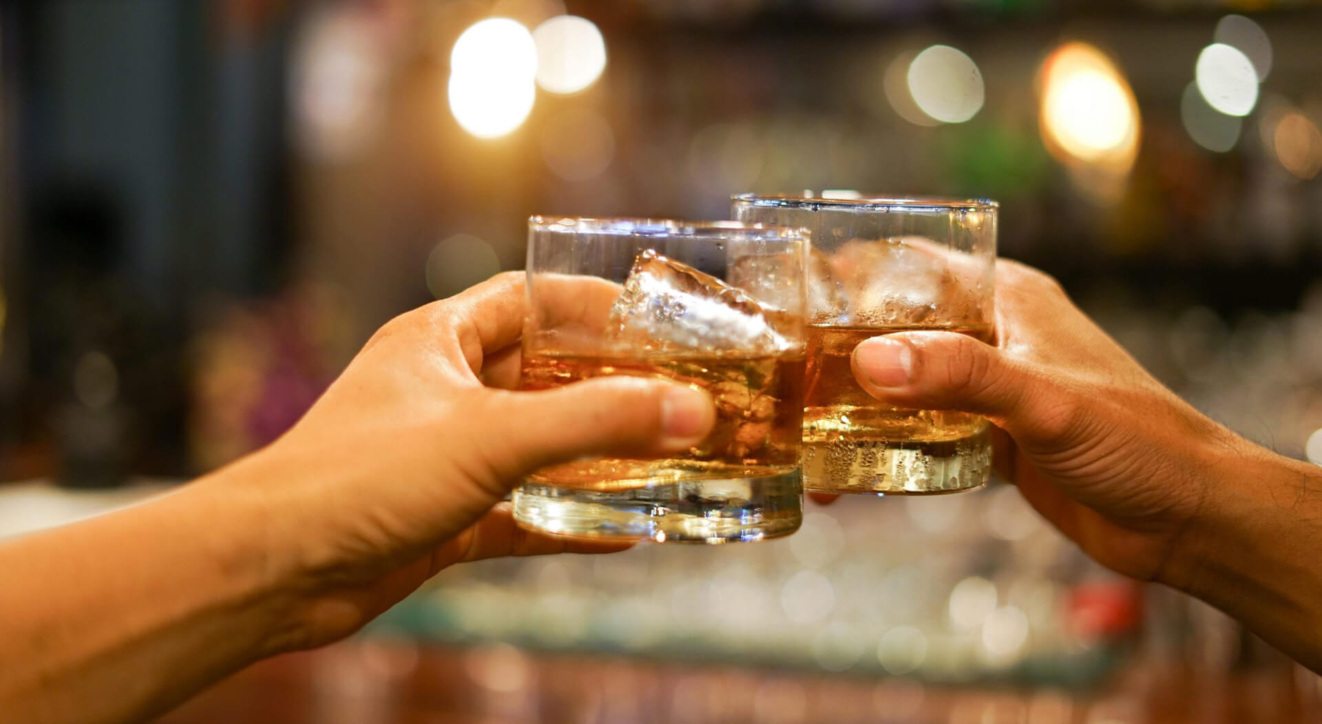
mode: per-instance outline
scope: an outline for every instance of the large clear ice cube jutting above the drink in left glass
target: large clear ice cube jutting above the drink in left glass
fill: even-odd
[[[795,320],[687,264],[644,251],[611,308],[608,337],[644,351],[773,355],[800,342]]]

